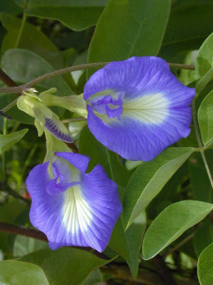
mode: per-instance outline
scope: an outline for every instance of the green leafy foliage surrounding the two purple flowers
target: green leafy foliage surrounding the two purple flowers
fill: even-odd
[[[100,163],[119,185],[124,211],[103,254],[3,231],[3,223],[32,228],[25,180],[43,162],[45,138],[16,106],[0,117],[0,284],[213,284],[213,0],[0,0],[1,69],[17,85],[83,63],[160,56],[175,76],[195,87],[188,138],[151,162],[123,160],[97,142],[76,113],[54,107],[75,147]],[[38,83],[38,91],[79,95],[96,71],[75,71]],[[0,81],[1,87],[6,87]],[[0,108],[16,94],[0,93]],[[17,194],[17,195],[16,195]]]

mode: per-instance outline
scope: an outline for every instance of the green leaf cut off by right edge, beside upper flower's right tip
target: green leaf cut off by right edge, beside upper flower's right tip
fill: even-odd
[[[209,145],[213,140],[213,90],[202,101],[197,117],[202,142]]]

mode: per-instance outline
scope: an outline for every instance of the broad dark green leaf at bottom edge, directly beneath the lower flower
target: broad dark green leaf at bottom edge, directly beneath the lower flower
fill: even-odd
[[[18,260],[39,265],[50,284],[80,285],[94,269],[112,259],[102,259],[82,249],[63,247],[55,251],[43,249]]]

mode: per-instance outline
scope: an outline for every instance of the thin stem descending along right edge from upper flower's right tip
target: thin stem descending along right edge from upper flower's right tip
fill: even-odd
[[[204,147],[202,145],[202,140],[200,138],[199,128],[198,128],[198,125],[197,125],[195,99],[192,101],[192,119],[193,119],[193,122],[194,122],[194,125],[195,125],[195,135],[196,135],[197,142],[198,142],[198,145],[199,145],[199,148],[200,148],[200,153],[202,155],[202,160],[204,162],[204,166],[206,167],[207,175],[209,177],[209,181],[210,181],[210,183],[212,185],[212,189],[213,189],[212,175],[211,175],[211,172],[209,170],[209,165],[208,165],[208,162],[207,162],[207,158],[206,158],[206,156],[204,154]]]

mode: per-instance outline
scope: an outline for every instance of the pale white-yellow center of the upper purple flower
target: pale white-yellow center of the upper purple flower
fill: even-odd
[[[124,112],[122,117],[140,120],[146,124],[160,124],[168,117],[169,100],[161,93],[143,95],[126,100],[124,98]]]

